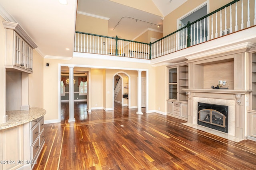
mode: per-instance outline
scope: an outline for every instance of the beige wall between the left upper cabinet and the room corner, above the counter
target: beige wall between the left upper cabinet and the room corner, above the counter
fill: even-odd
[[[30,107],[44,107],[44,58],[33,51],[33,74],[28,75],[28,103]]]

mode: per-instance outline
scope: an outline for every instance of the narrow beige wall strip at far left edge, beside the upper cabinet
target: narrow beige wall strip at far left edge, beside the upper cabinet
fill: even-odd
[[[2,21],[4,21],[4,19],[0,17],[0,123],[3,123],[5,115],[5,31]]]

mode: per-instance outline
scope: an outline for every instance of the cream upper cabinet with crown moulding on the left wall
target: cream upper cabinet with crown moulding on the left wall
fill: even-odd
[[[6,71],[33,73],[33,49],[36,44],[18,23],[2,21],[5,28]]]

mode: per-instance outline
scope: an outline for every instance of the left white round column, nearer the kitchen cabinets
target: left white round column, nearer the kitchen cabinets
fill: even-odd
[[[68,122],[75,121],[74,117],[74,67],[69,66],[69,119]]]

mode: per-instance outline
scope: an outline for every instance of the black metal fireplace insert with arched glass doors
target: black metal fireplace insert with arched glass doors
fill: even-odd
[[[228,106],[198,102],[197,124],[228,133]]]

